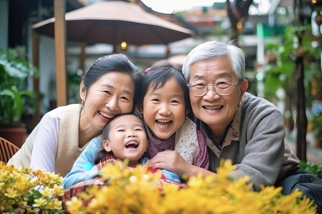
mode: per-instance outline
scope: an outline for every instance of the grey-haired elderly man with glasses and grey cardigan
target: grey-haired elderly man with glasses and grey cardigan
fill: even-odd
[[[188,82],[196,124],[205,135],[209,171],[185,162],[174,151],[160,152],[151,165],[193,176],[216,173],[220,160],[236,166],[231,177],[251,177],[253,188],[299,188],[322,213],[322,181],[299,168],[299,159],[284,143],[283,115],[272,103],[247,93],[245,58],[231,41],[210,41],[187,55],[183,73]]]

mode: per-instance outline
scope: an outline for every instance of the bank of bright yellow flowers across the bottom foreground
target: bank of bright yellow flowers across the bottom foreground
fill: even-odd
[[[234,180],[231,162],[222,161],[212,176],[188,178],[187,186],[160,182],[160,171],[147,167],[106,165],[100,171],[108,185],[93,185],[65,203],[71,214],[244,214],[316,213],[299,190],[284,196],[281,187],[251,191],[249,177]],[[62,213],[62,177],[0,162],[0,213]],[[42,190],[35,187],[42,186]],[[8,198],[7,196],[11,198]]]

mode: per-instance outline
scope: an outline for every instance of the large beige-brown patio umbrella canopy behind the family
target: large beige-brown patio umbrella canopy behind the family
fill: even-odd
[[[164,20],[127,1],[104,1],[65,14],[67,41],[87,44],[169,44],[190,37],[192,31]],[[54,36],[55,17],[32,28]]]

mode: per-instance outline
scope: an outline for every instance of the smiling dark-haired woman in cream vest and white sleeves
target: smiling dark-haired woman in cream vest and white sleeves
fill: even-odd
[[[100,57],[84,73],[81,104],[47,112],[8,165],[65,176],[87,142],[101,134],[115,115],[132,112],[142,74],[124,54]]]

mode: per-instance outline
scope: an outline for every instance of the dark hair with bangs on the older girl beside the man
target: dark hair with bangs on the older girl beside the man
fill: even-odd
[[[191,111],[189,89],[182,73],[182,65],[179,64],[159,63],[146,70],[143,77],[143,93],[140,104],[142,104],[144,96],[150,87],[152,87],[152,90],[162,88],[171,77],[174,77],[182,88],[185,96],[186,108]]]

